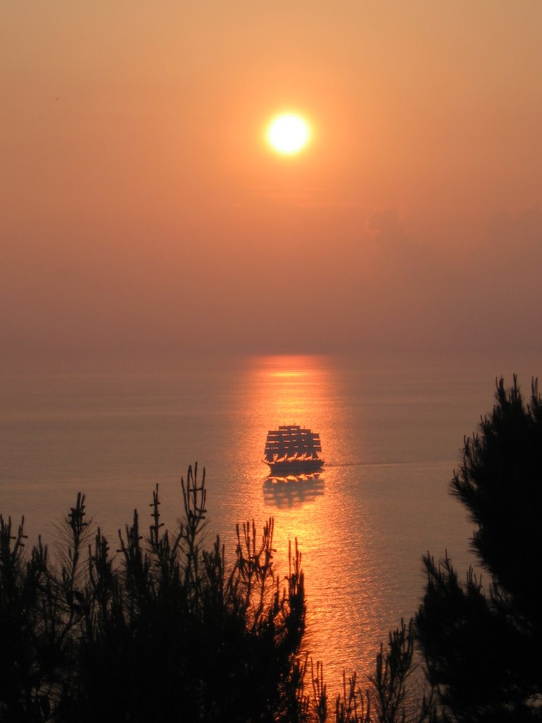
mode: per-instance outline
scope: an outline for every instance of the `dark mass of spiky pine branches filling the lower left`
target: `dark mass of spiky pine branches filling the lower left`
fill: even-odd
[[[305,626],[297,546],[288,577],[273,568],[273,523],[238,529],[225,569],[217,539],[200,547],[205,473],[182,482],[184,518],[160,523],[158,487],[147,536],[119,532],[119,559],[98,529],[88,545],[85,497],[66,516],[60,569],[22,525],[0,531],[0,720],[296,720]]]

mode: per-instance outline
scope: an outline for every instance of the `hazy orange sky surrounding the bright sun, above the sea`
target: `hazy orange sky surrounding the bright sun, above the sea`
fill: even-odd
[[[542,345],[540,0],[4,1],[0,34],[5,356]]]

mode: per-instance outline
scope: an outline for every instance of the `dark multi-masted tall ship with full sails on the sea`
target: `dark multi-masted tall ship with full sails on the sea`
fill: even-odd
[[[283,424],[267,432],[264,463],[272,474],[305,474],[324,466],[318,432],[297,424]]]

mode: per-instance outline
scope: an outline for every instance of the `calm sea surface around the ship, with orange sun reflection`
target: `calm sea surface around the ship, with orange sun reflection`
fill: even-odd
[[[536,367],[538,364],[538,367]],[[343,669],[371,672],[379,641],[423,594],[421,556],[444,549],[461,569],[471,526],[447,487],[463,436],[493,403],[494,380],[538,354],[380,354],[205,358],[152,371],[5,373],[0,512],[48,542],[79,490],[111,537],[160,484],[164,521],[181,510],[179,479],[206,468],[208,536],[233,559],[235,525],[275,518],[288,570],[298,539],[309,607],[307,646],[333,690]],[[318,479],[274,483],[267,429],[296,423],[322,437]],[[150,522],[150,518],[147,519]]]

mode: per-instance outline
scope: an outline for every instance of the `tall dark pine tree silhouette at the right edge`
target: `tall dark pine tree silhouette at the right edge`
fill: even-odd
[[[442,721],[542,720],[542,401],[497,382],[496,404],[465,438],[452,494],[476,529],[461,583],[448,557],[424,558],[428,576],[418,640]]]

